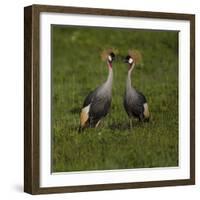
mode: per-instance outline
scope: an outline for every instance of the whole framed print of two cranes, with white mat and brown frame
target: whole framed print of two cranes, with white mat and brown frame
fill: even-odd
[[[24,191],[195,183],[195,16],[24,9]]]

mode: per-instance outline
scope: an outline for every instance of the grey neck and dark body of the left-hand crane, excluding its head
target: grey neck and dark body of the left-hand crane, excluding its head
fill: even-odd
[[[112,100],[112,81],[113,71],[109,68],[107,81],[85,98],[82,112],[87,114],[85,123],[89,127],[95,127],[108,114]]]

